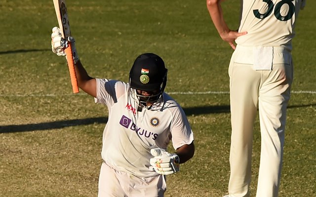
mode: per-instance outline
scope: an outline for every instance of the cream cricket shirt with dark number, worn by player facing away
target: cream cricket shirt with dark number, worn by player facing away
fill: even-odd
[[[303,1],[303,2],[302,2]],[[241,0],[236,43],[243,46],[282,46],[292,50],[294,26],[305,0]]]

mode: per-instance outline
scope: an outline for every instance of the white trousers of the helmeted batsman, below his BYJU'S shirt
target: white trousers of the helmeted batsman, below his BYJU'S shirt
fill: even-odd
[[[164,175],[138,177],[102,163],[98,197],[163,197],[166,191]]]

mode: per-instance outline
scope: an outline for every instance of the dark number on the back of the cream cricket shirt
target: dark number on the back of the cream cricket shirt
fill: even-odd
[[[273,9],[274,9],[274,15],[276,19],[280,21],[289,20],[290,18],[292,18],[293,14],[295,13],[295,6],[292,3],[293,0],[281,0],[280,2],[276,3],[276,5],[272,2],[272,0],[262,0],[262,1],[268,3],[268,10],[266,13],[262,14],[259,12],[258,9],[254,9],[253,14],[258,19],[264,19],[268,17],[272,13]],[[282,5],[284,4],[287,4],[289,9],[286,16],[281,16],[280,10],[281,10]]]

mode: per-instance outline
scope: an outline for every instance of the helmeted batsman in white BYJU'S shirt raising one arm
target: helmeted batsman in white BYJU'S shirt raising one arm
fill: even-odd
[[[79,88],[109,109],[103,131],[98,197],[163,197],[165,175],[195,153],[194,135],[180,105],[164,92],[167,68],[156,54],[139,55],[129,82],[90,77],[82,66],[75,40],[52,30],[52,51],[65,55],[71,42]],[[175,153],[168,153],[172,141]]]

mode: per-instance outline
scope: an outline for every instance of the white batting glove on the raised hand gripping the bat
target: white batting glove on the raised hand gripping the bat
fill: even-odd
[[[51,33],[51,50],[53,53],[58,56],[65,56],[66,53],[64,51],[65,48],[68,47],[68,44],[71,43],[72,55],[74,63],[77,64],[79,61],[78,53],[75,45],[75,38],[72,36],[67,37],[67,40],[61,37],[61,31],[58,27],[54,27]],[[67,57],[66,57],[67,59]]]

